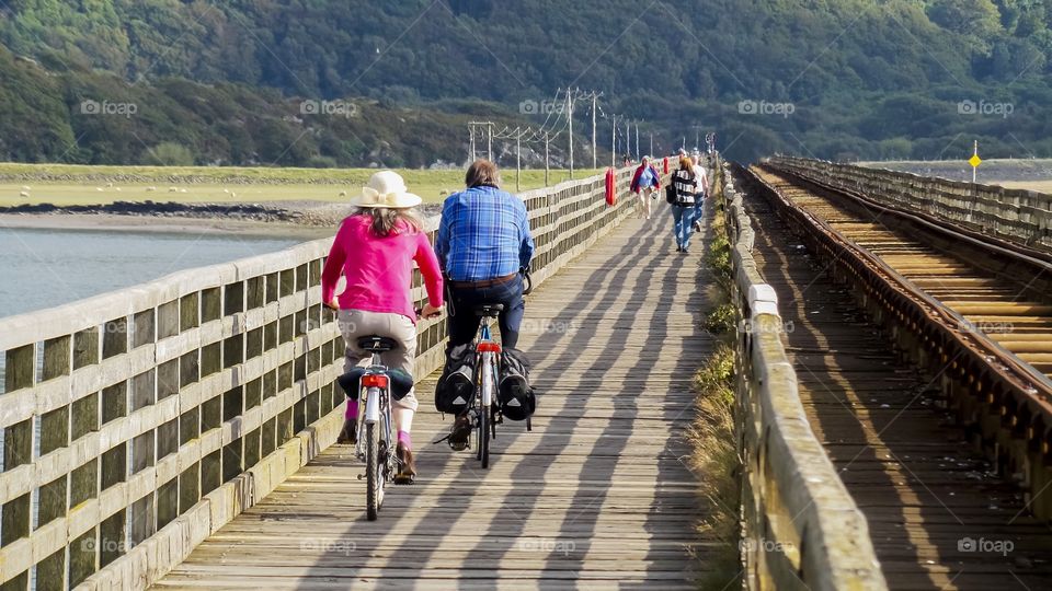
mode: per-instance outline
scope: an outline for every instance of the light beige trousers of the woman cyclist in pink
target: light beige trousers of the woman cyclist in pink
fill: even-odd
[[[351,371],[355,366],[368,367],[373,362],[373,354],[359,349],[357,340],[364,336],[385,336],[393,338],[399,347],[380,356],[382,363],[391,369],[399,369],[416,379],[413,373],[413,360],[416,358],[416,326],[401,314],[368,312],[365,310],[341,310],[336,315],[336,323],[343,340],[347,346],[346,360],[343,371]],[[391,401],[396,408],[416,410],[416,393],[411,390],[404,398]]]

